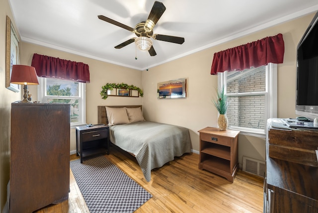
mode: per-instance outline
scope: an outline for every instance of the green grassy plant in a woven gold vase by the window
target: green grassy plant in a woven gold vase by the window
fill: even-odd
[[[226,130],[228,127],[228,117],[226,113],[228,110],[229,101],[228,96],[224,94],[224,86],[222,87],[221,91],[217,90],[217,100],[213,100],[212,102],[220,113],[218,118],[219,127],[221,130]]]

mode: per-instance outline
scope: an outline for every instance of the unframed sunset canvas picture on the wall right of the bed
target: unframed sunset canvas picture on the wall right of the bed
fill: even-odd
[[[158,83],[158,99],[186,98],[186,79]]]

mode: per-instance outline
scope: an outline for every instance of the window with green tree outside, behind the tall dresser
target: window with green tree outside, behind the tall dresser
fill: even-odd
[[[71,126],[84,124],[85,84],[55,78],[39,78],[39,101],[71,105]]]

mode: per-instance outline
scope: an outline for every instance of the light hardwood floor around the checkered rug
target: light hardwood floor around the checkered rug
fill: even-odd
[[[130,154],[113,147],[105,155],[117,167],[153,195],[136,213],[262,213],[263,179],[239,170],[234,183],[198,169],[199,155],[176,157],[152,170],[147,182]],[[78,158],[71,156],[71,160]],[[71,171],[69,200],[37,213],[88,213]]]

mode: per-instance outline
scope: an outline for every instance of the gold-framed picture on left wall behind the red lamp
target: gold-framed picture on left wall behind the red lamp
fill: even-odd
[[[6,16],[6,48],[5,48],[5,87],[13,92],[20,92],[19,85],[11,84],[12,66],[19,64],[20,41],[11,19]]]

